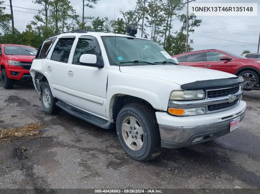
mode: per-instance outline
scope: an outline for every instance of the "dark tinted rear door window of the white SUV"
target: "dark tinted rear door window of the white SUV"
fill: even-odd
[[[60,39],[56,44],[50,59],[67,63],[73,42],[73,38]]]

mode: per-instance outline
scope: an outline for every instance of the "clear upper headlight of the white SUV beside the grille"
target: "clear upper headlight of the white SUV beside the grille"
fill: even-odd
[[[170,95],[170,100],[198,100],[204,98],[204,90],[173,90]]]

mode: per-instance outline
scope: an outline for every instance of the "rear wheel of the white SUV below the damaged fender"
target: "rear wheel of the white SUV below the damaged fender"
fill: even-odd
[[[42,83],[40,98],[44,112],[48,114],[55,114],[60,112],[61,109],[56,105],[58,99],[53,97],[48,82]]]

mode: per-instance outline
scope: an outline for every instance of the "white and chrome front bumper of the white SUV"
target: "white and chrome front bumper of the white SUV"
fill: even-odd
[[[161,145],[166,148],[180,148],[209,141],[230,132],[230,120],[246,114],[246,102],[240,103],[229,110],[196,115],[176,117],[166,112],[156,112],[161,135]],[[194,142],[194,139],[203,137]]]

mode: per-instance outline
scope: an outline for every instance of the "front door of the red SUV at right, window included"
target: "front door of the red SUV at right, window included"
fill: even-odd
[[[226,56],[226,55],[224,55],[220,52],[216,52],[216,51],[206,52],[205,67],[207,67],[209,69],[232,73],[232,62],[231,62],[232,60],[221,61],[220,60],[221,56]]]

